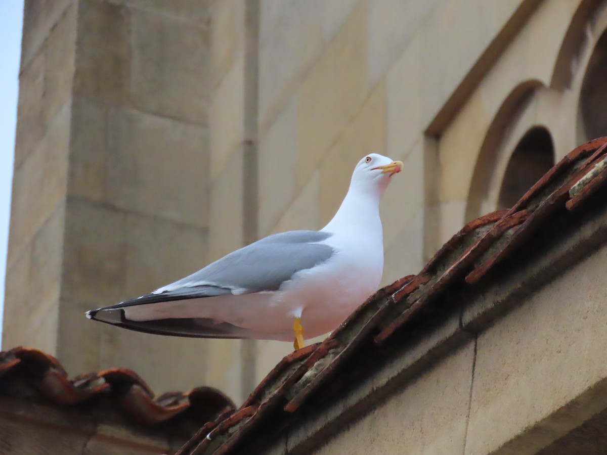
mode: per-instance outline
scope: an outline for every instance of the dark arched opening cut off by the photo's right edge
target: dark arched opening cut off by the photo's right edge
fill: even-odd
[[[592,50],[582,81],[578,135],[580,142],[607,136],[607,30]]]

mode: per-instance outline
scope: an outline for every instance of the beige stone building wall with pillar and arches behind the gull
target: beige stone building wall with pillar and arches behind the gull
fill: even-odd
[[[26,0],[3,348],[241,402],[290,343],[84,311],[322,227],[371,151],[404,162],[383,284],[416,274],[607,133],[605,30],[599,0]]]

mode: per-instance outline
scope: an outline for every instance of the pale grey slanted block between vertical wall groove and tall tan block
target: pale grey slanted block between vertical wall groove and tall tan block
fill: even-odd
[[[297,98],[259,141],[259,232],[266,235],[297,194]]]

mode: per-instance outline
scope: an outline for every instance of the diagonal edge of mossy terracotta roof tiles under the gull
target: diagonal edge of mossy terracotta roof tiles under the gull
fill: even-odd
[[[285,357],[236,413],[209,422],[178,454],[236,453],[253,428],[296,413],[361,345],[381,349],[447,289],[480,281],[555,213],[575,209],[606,182],[607,137],[572,150],[511,209],[470,221],[418,275],[380,289],[324,342]]]

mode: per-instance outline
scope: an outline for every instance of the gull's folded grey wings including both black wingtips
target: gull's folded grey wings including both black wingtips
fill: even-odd
[[[333,248],[317,242],[332,234],[291,231],[270,235],[234,251],[202,270],[151,294],[88,311],[87,317],[127,329],[182,337],[251,338],[254,332],[208,318],[171,318],[137,322],[125,308],[226,294],[275,291],[296,272],[329,260]]]

